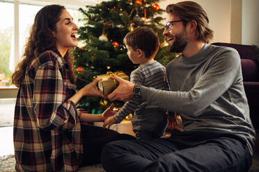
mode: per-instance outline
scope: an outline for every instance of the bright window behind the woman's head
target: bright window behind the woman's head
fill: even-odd
[[[15,87],[11,84],[15,65],[24,53],[24,45],[29,37],[34,17],[38,10],[45,5],[48,4],[41,2],[39,5],[38,3],[35,5],[0,0],[0,89]],[[74,9],[67,8],[74,18],[74,22],[79,26],[79,11]]]

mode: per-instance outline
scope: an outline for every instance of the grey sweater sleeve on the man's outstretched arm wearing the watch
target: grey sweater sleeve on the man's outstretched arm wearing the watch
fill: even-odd
[[[240,56],[237,51],[226,49],[211,61],[209,69],[189,91],[172,92],[141,86],[141,99],[170,111],[196,114],[226,92],[239,71]]]

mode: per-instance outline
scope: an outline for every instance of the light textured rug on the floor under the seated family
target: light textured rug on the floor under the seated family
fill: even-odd
[[[83,166],[78,172],[105,172],[101,164]],[[5,155],[0,157],[0,172],[15,172],[15,155]]]

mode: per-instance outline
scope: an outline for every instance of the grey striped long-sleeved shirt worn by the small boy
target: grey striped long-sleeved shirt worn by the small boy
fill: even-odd
[[[169,90],[166,68],[156,60],[140,65],[137,69],[132,71],[130,81],[134,84],[144,85],[146,87]],[[127,101],[113,117],[117,123],[120,123],[120,121],[123,121],[130,113],[133,114],[133,112],[135,112],[137,114],[139,110],[151,107],[157,106],[152,105],[152,102],[137,101],[133,98]]]

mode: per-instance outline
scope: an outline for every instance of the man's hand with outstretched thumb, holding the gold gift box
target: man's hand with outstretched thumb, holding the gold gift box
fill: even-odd
[[[118,76],[111,76],[111,79],[117,80],[118,87],[107,96],[110,101],[129,101],[133,98],[133,89],[135,84]]]

